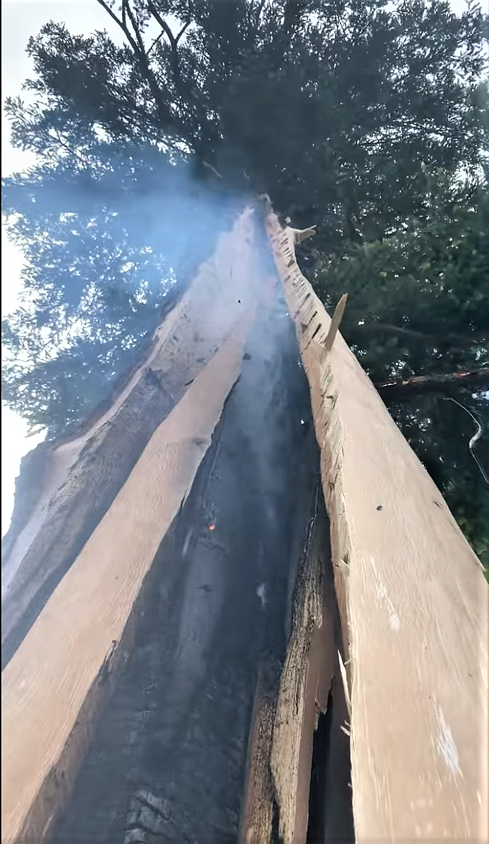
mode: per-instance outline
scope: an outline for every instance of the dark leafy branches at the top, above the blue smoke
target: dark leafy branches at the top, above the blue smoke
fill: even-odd
[[[474,167],[487,21],[442,0],[124,0],[124,46],[46,24],[14,143],[91,165],[100,138],[192,154],[268,192],[328,248],[419,213],[420,165]],[[173,15],[174,30],[166,23]],[[246,174],[246,175],[245,175]]]

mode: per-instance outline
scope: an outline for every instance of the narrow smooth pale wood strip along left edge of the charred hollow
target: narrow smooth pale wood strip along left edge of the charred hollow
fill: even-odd
[[[41,841],[69,793],[94,716],[84,705],[121,658],[133,604],[239,375],[252,320],[250,309],[155,431],[3,671],[3,844]]]

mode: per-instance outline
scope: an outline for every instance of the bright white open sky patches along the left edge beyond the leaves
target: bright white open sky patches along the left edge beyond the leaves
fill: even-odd
[[[488,8],[488,3],[489,0],[482,0],[482,8]],[[453,0],[452,6],[460,13],[465,9],[465,0]],[[121,40],[117,24],[111,21],[96,0],[64,0],[63,3],[3,0],[2,102],[7,96],[21,94],[22,83],[32,72],[25,46],[30,36],[36,35],[48,20],[65,23],[68,30],[80,35],[106,29],[115,41]],[[24,170],[33,161],[32,154],[23,153],[10,145],[8,121],[2,111],[2,175]],[[22,264],[22,255],[8,242],[2,229],[2,316],[14,308],[18,299]],[[42,439],[43,436],[28,437],[24,420],[2,408],[2,536],[8,530],[14,506],[14,482],[19,474],[20,460]]]

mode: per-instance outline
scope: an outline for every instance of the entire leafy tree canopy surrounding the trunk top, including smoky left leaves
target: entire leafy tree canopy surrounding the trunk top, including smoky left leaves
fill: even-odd
[[[13,143],[38,164],[3,180],[27,258],[3,323],[4,401],[49,436],[78,424],[259,192],[294,225],[318,225],[302,268],[327,302],[349,292],[345,334],[376,383],[487,365],[478,6],[98,2],[120,40],[46,23],[28,46],[34,78],[7,103]],[[480,545],[473,423],[454,404],[448,424],[445,399],[483,413],[483,387],[385,394]]]

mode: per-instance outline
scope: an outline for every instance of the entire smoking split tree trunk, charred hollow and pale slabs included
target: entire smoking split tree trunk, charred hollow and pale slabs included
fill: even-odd
[[[24,469],[3,844],[484,837],[481,566],[267,225]]]

